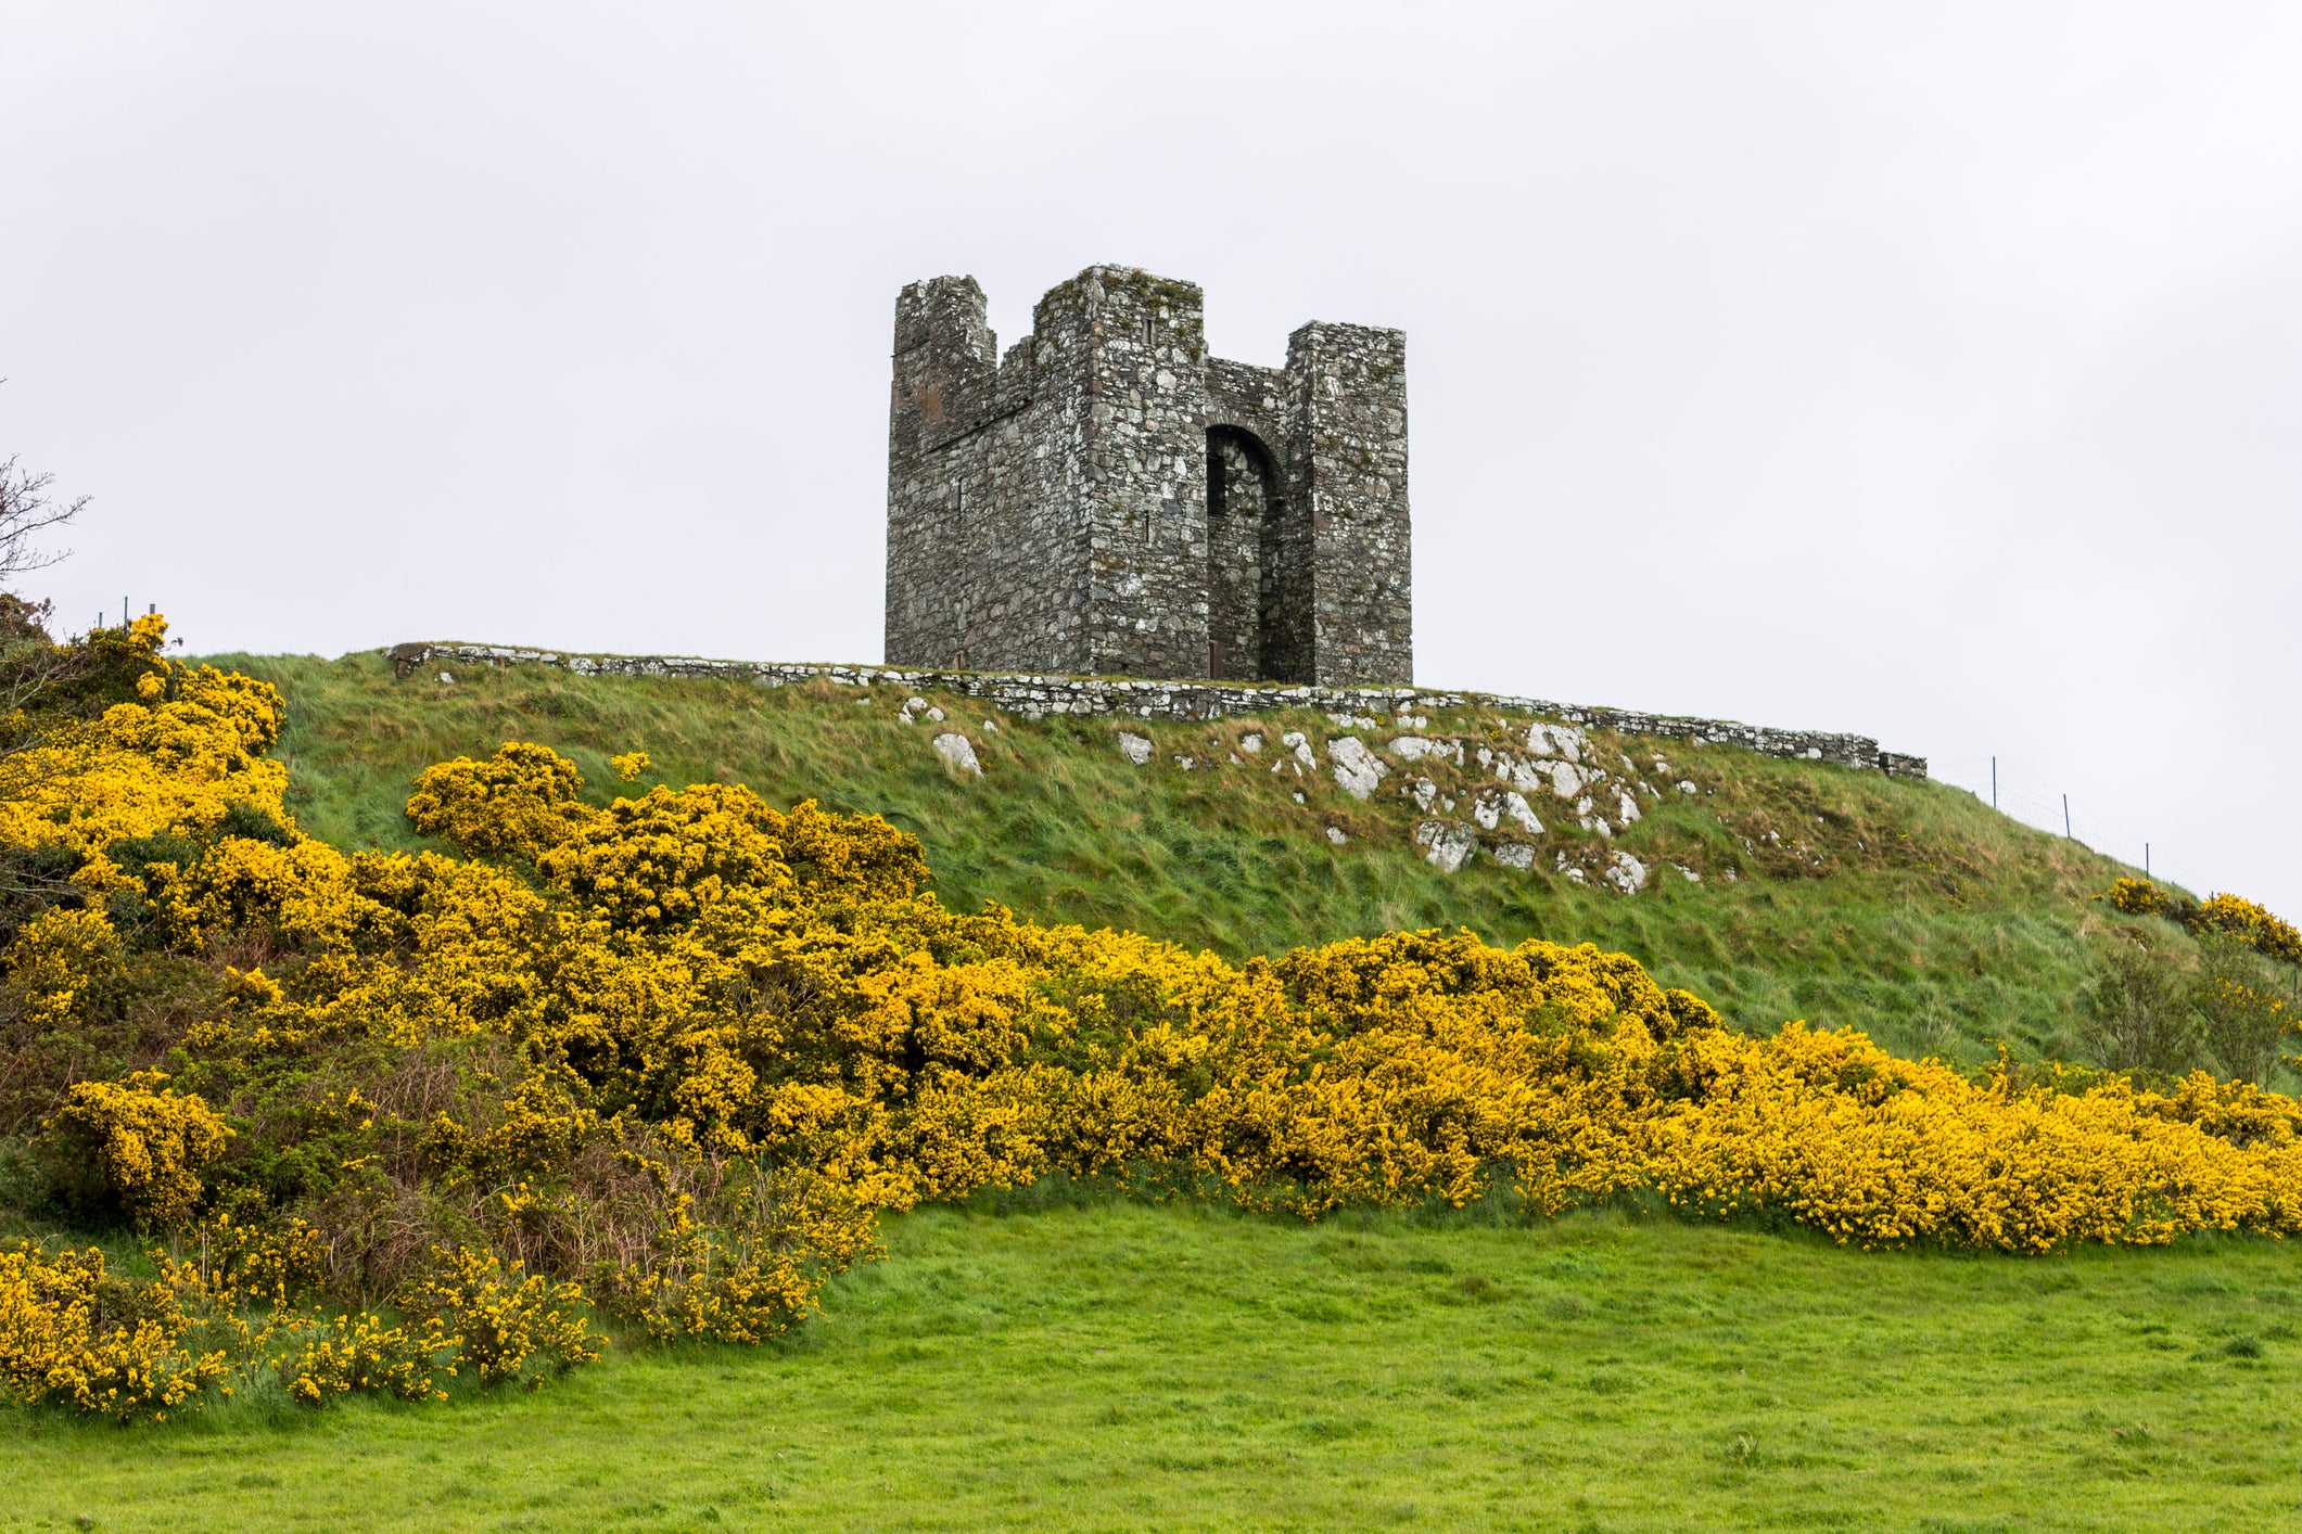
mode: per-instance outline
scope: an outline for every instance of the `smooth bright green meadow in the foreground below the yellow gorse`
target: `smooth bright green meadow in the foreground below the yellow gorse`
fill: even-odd
[[[1865,1256],[1669,1219],[1084,1205],[921,1212],[889,1247],[796,1345],[617,1355],[541,1396],[0,1417],[0,1529],[2302,1518],[2302,1274],[2267,1242]]]

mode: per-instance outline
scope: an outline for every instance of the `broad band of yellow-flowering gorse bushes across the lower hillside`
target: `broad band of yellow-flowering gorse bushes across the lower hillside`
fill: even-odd
[[[2203,1074],[1975,1081],[1800,1023],[1752,1037],[1591,945],[1395,931],[1234,966],[951,913],[877,816],[727,784],[596,807],[525,743],[430,768],[410,800],[477,858],[233,835],[233,796],[281,812],[276,697],[154,667],[41,787],[104,816],[0,816],[76,849],[90,890],[18,931],[7,984],[39,1017],[85,1012],[136,961],[110,918],[207,966],[177,1076],[60,1086],[51,1134],[106,1145],[110,1194],[173,1230],[161,1288],[209,1318],[269,1306],[233,1357],[285,1345],[302,1401],[573,1366],[599,1348],[587,1306],[651,1339],[764,1341],[875,1253],[875,1210],[1050,1173],[1305,1219],[1637,1196],[1860,1247],[2302,1230],[2293,1099]],[[216,1256],[256,1228],[285,1244]],[[299,1313],[299,1290],[345,1313]],[[9,1336],[78,1336],[53,1281],[14,1293]],[[387,1325],[368,1306],[394,1297]],[[166,1378],[198,1389],[154,1325],[120,1345],[175,1348]],[[18,1391],[110,1401],[28,1385],[46,1355],[9,1348]]]

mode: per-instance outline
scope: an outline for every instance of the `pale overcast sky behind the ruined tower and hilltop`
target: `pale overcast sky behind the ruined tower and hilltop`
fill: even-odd
[[[895,290],[1409,338],[1416,672],[2302,918],[2302,7],[0,0],[69,628],[877,660]],[[41,591],[37,591],[41,593]]]

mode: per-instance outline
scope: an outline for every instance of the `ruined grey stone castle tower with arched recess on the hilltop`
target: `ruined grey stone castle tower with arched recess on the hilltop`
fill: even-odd
[[[1206,354],[1199,290],[1089,267],[997,354],[971,276],[895,299],[886,662],[1413,681],[1407,338]]]

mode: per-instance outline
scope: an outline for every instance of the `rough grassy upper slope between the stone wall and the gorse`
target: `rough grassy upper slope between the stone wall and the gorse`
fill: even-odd
[[[605,757],[642,747],[654,757],[649,780],[746,782],[776,803],[813,796],[889,814],[918,833],[944,899],[962,908],[997,899],[1043,920],[1135,927],[1234,957],[1430,925],[1466,925],[1501,943],[1595,941],[1750,1028],[1791,1017],[1853,1023],[1890,1049],[1968,1063],[1989,1058],[1996,1040],[2023,1053],[2074,1053],[2086,897],[2116,874],[1957,789],[1680,743],[1604,741],[1609,766],[1616,750],[1632,750],[1641,766],[1657,752],[1669,759],[1667,773],[1646,773],[1667,800],[1618,844],[1706,874],[1692,885],[1664,867],[1646,892],[1623,899],[1492,860],[1439,874],[1416,856],[1420,816],[1400,796],[1413,770],[1393,773],[1370,803],[1342,796],[1328,777],[1273,775],[1278,729],[1301,727],[1314,741],[1340,734],[1314,713],[1215,727],[1137,722],[1160,752],[1135,768],[1114,750],[1112,720],[1006,718],[990,734],[981,704],[939,697],[948,724],[900,724],[902,695],[886,688],[861,701],[854,690],[587,681],[548,669],[474,669],[442,685],[435,676],[396,683],[378,655],[221,660],[288,695],[281,754],[295,773],[295,810],[341,846],[414,846],[401,805],[414,773],[437,759],[541,741],[578,759],[605,793],[615,787]],[[974,738],[983,782],[955,780],[930,750],[930,736],[953,724]],[[1229,747],[1248,729],[1268,731],[1271,747],[1232,766]],[[1492,715],[1466,713],[1434,718],[1427,734],[1476,743],[1494,729]],[[1199,768],[1176,768],[1176,754]],[[1680,800],[1669,789],[1678,777],[1703,796]],[[1289,798],[1298,784],[1303,805]],[[1561,800],[1538,796],[1535,810],[1552,828],[1545,862],[1556,851],[1591,860],[1609,851],[1572,828]],[[1351,844],[1331,849],[1328,826]],[[1791,851],[1798,842],[1809,851]],[[1738,883],[1724,881],[1729,867],[1743,874]]]

